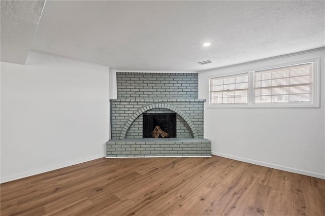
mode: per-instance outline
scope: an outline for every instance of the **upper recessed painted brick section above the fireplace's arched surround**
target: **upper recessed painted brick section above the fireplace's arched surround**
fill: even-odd
[[[117,98],[198,98],[198,74],[116,73]]]

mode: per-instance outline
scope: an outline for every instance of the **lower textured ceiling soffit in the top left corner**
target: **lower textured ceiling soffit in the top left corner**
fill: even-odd
[[[44,4],[45,0],[1,1],[1,61],[25,63]]]

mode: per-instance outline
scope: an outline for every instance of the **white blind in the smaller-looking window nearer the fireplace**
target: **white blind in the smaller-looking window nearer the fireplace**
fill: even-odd
[[[210,103],[247,103],[248,73],[210,79]]]

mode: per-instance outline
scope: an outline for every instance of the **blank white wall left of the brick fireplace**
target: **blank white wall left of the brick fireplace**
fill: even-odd
[[[1,182],[105,156],[108,73],[34,52],[1,62]]]

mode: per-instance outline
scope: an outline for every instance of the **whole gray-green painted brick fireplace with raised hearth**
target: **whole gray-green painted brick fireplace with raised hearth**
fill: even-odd
[[[116,78],[107,157],[211,156],[211,142],[203,137],[205,99],[198,99],[198,74],[117,73]],[[148,114],[176,114],[176,137],[143,138]]]

